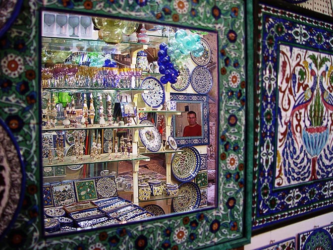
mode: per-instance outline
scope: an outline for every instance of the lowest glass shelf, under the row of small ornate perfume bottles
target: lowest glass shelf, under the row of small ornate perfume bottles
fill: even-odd
[[[101,154],[100,159],[95,159],[95,161],[91,161],[90,155],[84,155],[82,160],[75,160],[73,162],[71,160],[71,156],[65,156],[63,157],[64,161],[59,161],[57,159],[53,159],[52,164],[49,164],[49,159],[48,158],[43,158],[43,167],[56,167],[56,166],[69,166],[69,165],[78,165],[78,164],[95,164],[95,163],[102,163],[102,162],[120,162],[120,161],[136,161],[136,160],[144,160],[144,161],[149,161],[150,157],[145,156],[145,155],[131,155],[130,157],[125,157],[123,158],[122,155],[118,152],[118,157],[114,158],[114,154],[112,153],[112,159],[109,160],[109,154]]]

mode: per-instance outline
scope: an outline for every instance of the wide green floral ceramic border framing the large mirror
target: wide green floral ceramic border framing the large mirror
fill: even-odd
[[[157,3],[158,2],[158,3]],[[183,3],[186,3],[183,5]],[[44,4],[44,6],[42,5]],[[144,19],[218,32],[219,150],[217,206],[118,227],[44,235],[40,156],[40,13],[42,9]],[[24,0],[13,25],[0,38],[0,114],[25,164],[19,214],[2,237],[1,249],[231,249],[249,243],[253,161],[253,5],[243,0]],[[10,59],[23,62],[17,74],[3,72]],[[2,62],[4,64],[2,64]],[[231,64],[232,63],[232,64]],[[236,76],[237,85],[229,83]],[[231,78],[230,78],[231,77]],[[235,78],[233,78],[235,79]],[[231,80],[230,80],[231,81]],[[18,86],[24,86],[25,89]],[[234,93],[230,97],[230,94]],[[237,93],[237,94],[235,94]],[[245,98],[246,97],[246,98]],[[9,100],[9,102],[8,102]],[[13,109],[9,107],[13,106]],[[232,164],[230,164],[232,162]],[[233,163],[237,162],[235,166]]]

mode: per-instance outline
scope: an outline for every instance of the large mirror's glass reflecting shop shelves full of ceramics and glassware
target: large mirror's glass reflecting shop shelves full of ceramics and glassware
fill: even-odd
[[[216,34],[41,16],[45,231],[116,227],[214,206]],[[58,21],[49,22],[52,16]],[[188,55],[175,80],[161,70],[159,55],[178,30],[195,34],[203,50]],[[140,87],[147,79],[164,92],[162,100],[154,88]]]

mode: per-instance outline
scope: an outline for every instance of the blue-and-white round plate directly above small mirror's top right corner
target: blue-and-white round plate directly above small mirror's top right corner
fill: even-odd
[[[213,78],[209,70],[196,66],[192,71],[191,86],[198,94],[207,94],[213,86]]]

